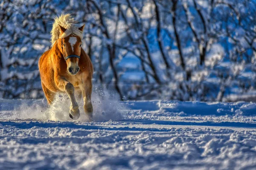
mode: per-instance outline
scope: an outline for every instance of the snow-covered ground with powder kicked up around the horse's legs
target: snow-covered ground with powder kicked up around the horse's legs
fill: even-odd
[[[81,105],[81,102],[79,102]],[[256,104],[0,100],[0,169],[256,169]]]

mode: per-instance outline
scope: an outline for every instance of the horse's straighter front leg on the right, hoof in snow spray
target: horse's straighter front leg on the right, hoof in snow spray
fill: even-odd
[[[87,114],[89,122],[93,121],[93,105],[91,102],[91,94],[92,94],[92,81],[91,79],[87,79],[83,81],[84,83],[81,85],[81,92],[84,100],[84,112]]]

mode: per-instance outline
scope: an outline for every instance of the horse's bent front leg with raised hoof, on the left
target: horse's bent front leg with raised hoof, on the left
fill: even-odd
[[[56,81],[56,84],[61,89],[61,91],[65,91],[70,98],[70,101],[71,101],[70,114],[69,114],[70,118],[75,120],[78,119],[80,116],[80,111],[75,98],[74,86],[70,82],[68,82],[65,78],[58,78]]]

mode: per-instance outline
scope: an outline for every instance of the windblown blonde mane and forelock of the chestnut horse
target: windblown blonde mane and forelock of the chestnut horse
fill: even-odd
[[[59,17],[54,18],[54,23],[52,25],[52,31],[51,31],[51,42],[52,45],[58,38],[65,38],[69,36],[70,34],[75,34],[83,39],[82,31],[80,31],[76,27],[77,21],[74,20],[74,18],[71,18],[71,14],[61,14]],[[66,28],[67,30],[60,35],[60,28],[59,25]]]

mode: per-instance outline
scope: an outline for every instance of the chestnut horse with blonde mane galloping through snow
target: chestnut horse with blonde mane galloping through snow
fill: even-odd
[[[51,31],[52,48],[39,59],[41,84],[49,104],[58,92],[66,92],[71,100],[70,118],[78,119],[79,107],[75,91],[82,94],[84,111],[92,121],[91,103],[93,65],[82,45],[84,25],[75,26],[70,14],[55,17]]]

